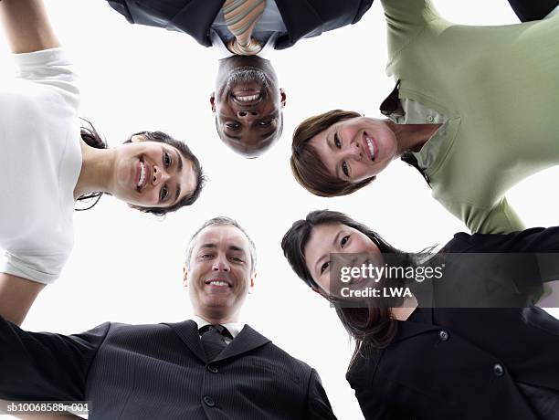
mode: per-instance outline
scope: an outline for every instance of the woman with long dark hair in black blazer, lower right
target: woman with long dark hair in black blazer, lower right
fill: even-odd
[[[559,274],[559,227],[508,235],[459,233],[437,254],[406,254],[351,217],[322,210],[295,222],[281,247],[299,278],[333,304],[355,341],[346,378],[367,420],[556,418],[559,321],[533,306],[533,299],[543,281]],[[395,306],[343,298],[336,291],[341,278],[331,273],[337,253],[352,261],[396,256],[398,264],[418,272],[427,258],[431,268],[444,264],[443,252],[458,264],[441,266],[443,278],[430,287],[417,283],[418,294]],[[472,267],[470,262],[479,260],[472,257],[487,253],[501,253],[512,264],[491,274]],[[421,305],[429,297],[421,289],[434,297],[431,304]],[[475,293],[468,297],[472,289],[489,290],[501,308],[483,307],[471,299]],[[445,308],[448,301],[461,301],[462,308]],[[477,307],[464,308],[469,304]]]

